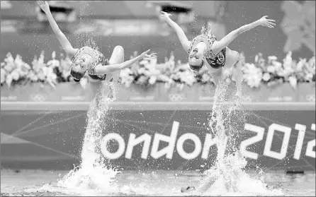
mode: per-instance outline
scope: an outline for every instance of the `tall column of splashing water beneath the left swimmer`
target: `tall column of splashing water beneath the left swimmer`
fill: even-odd
[[[103,83],[91,102],[87,117],[86,133],[81,151],[81,164],[57,182],[57,186],[84,191],[118,191],[115,176],[120,173],[111,167],[101,153],[102,131],[106,126],[108,103],[115,100],[116,88],[113,84]],[[108,92],[108,94],[106,94]]]

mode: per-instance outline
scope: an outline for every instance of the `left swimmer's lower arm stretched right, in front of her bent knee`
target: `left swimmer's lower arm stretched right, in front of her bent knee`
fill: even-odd
[[[156,53],[147,54],[149,51],[150,51],[150,49],[147,50],[146,52],[143,52],[139,56],[136,56],[133,59],[130,59],[128,61],[124,61],[122,64],[112,64],[112,65],[106,65],[106,66],[102,66],[99,64],[95,68],[95,73],[97,75],[104,75],[104,74],[108,74],[108,73],[113,73],[115,71],[119,71],[119,70],[122,70],[124,68],[128,68],[129,66],[132,66],[132,64],[134,64],[136,61],[138,61],[140,59],[157,59]]]

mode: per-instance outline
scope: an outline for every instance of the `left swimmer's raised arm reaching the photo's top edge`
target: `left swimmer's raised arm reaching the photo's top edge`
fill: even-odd
[[[60,44],[62,44],[62,48],[64,51],[69,55],[73,56],[77,49],[74,49],[72,47],[72,44],[70,44],[67,37],[64,35],[64,33],[60,30],[58,27],[56,21],[52,17],[52,13],[50,13],[50,6],[48,5],[47,1],[37,1],[38,6],[46,13],[48,22],[50,22],[50,26],[52,27],[52,30],[54,31],[58,41],[60,41]]]

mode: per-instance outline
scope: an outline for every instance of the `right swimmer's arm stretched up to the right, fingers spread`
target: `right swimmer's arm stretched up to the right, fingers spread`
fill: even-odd
[[[276,24],[273,22],[276,22],[276,20],[267,19],[267,17],[268,16],[263,16],[259,20],[254,21],[253,23],[243,25],[242,27],[238,28],[237,30],[233,30],[232,32],[227,34],[225,37],[223,37],[222,40],[220,40],[218,42],[214,42],[214,44],[212,46],[212,51],[215,54],[218,54],[218,52],[220,52],[222,49],[227,47],[227,45],[230,44],[230,42],[235,40],[235,38],[238,35],[241,35],[242,33],[247,32],[248,30],[256,28],[259,25],[266,26],[268,28],[274,28],[274,26]]]

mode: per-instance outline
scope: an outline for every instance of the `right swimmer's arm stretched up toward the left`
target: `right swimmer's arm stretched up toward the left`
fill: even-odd
[[[171,18],[169,17],[171,16],[170,13],[166,13],[164,11],[162,11],[161,13],[162,13],[161,17],[167,21],[167,23],[171,26],[171,28],[173,28],[176,31],[176,35],[178,35],[178,38],[181,42],[182,47],[184,47],[184,50],[186,50],[186,52],[188,53],[188,48],[190,47],[191,42],[188,41],[188,37],[186,37],[184,30],[182,30],[180,26],[176,24],[176,22],[174,22],[174,20],[171,20]]]

